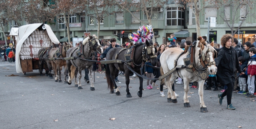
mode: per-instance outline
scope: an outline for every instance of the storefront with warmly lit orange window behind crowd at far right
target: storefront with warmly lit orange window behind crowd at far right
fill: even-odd
[[[226,31],[226,34],[231,34],[231,31]],[[239,34],[239,39],[238,39]],[[251,43],[255,42],[256,31],[239,31],[234,34],[234,38],[237,38],[244,45],[245,42],[249,41]]]

